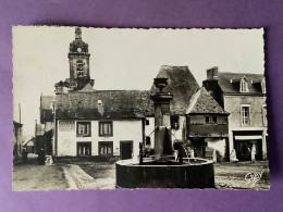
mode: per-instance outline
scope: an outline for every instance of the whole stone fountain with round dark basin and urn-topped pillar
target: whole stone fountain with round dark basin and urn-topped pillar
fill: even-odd
[[[139,162],[122,160],[115,163],[119,188],[214,188],[213,162],[199,158],[174,160],[170,134],[170,101],[173,96],[163,92],[167,78],[155,78],[159,91],[151,95],[155,102],[155,157]],[[179,149],[180,151],[180,149]]]

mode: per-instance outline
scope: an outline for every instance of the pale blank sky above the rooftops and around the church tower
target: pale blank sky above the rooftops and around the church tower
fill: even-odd
[[[151,87],[162,65],[186,65],[201,86],[206,70],[263,74],[263,29],[121,29],[82,27],[95,89]],[[69,46],[75,27],[13,27],[14,121],[25,139],[39,122],[40,95],[70,77]]]

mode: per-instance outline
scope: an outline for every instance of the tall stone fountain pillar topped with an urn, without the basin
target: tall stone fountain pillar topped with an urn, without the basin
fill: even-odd
[[[159,88],[159,91],[150,96],[155,102],[155,151],[157,159],[173,154],[172,139],[169,134],[170,101],[173,96],[163,92],[163,88],[168,85],[167,80],[168,78],[155,78],[155,86]]]

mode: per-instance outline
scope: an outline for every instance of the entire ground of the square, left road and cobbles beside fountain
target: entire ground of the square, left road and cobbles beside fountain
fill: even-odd
[[[254,180],[255,173],[260,176]],[[214,164],[217,189],[269,189],[268,162]],[[246,178],[245,178],[246,177]],[[249,182],[249,183],[248,183]],[[13,190],[114,189],[115,165],[109,162],[15,164]]]

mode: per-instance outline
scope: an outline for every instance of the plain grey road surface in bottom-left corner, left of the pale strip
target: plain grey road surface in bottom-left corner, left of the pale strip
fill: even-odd
[[[63,170],[58,165],[38,165],[37,155],[28,154],[26,164],[13,167],[13,190],[64,190],[69,187]]]

